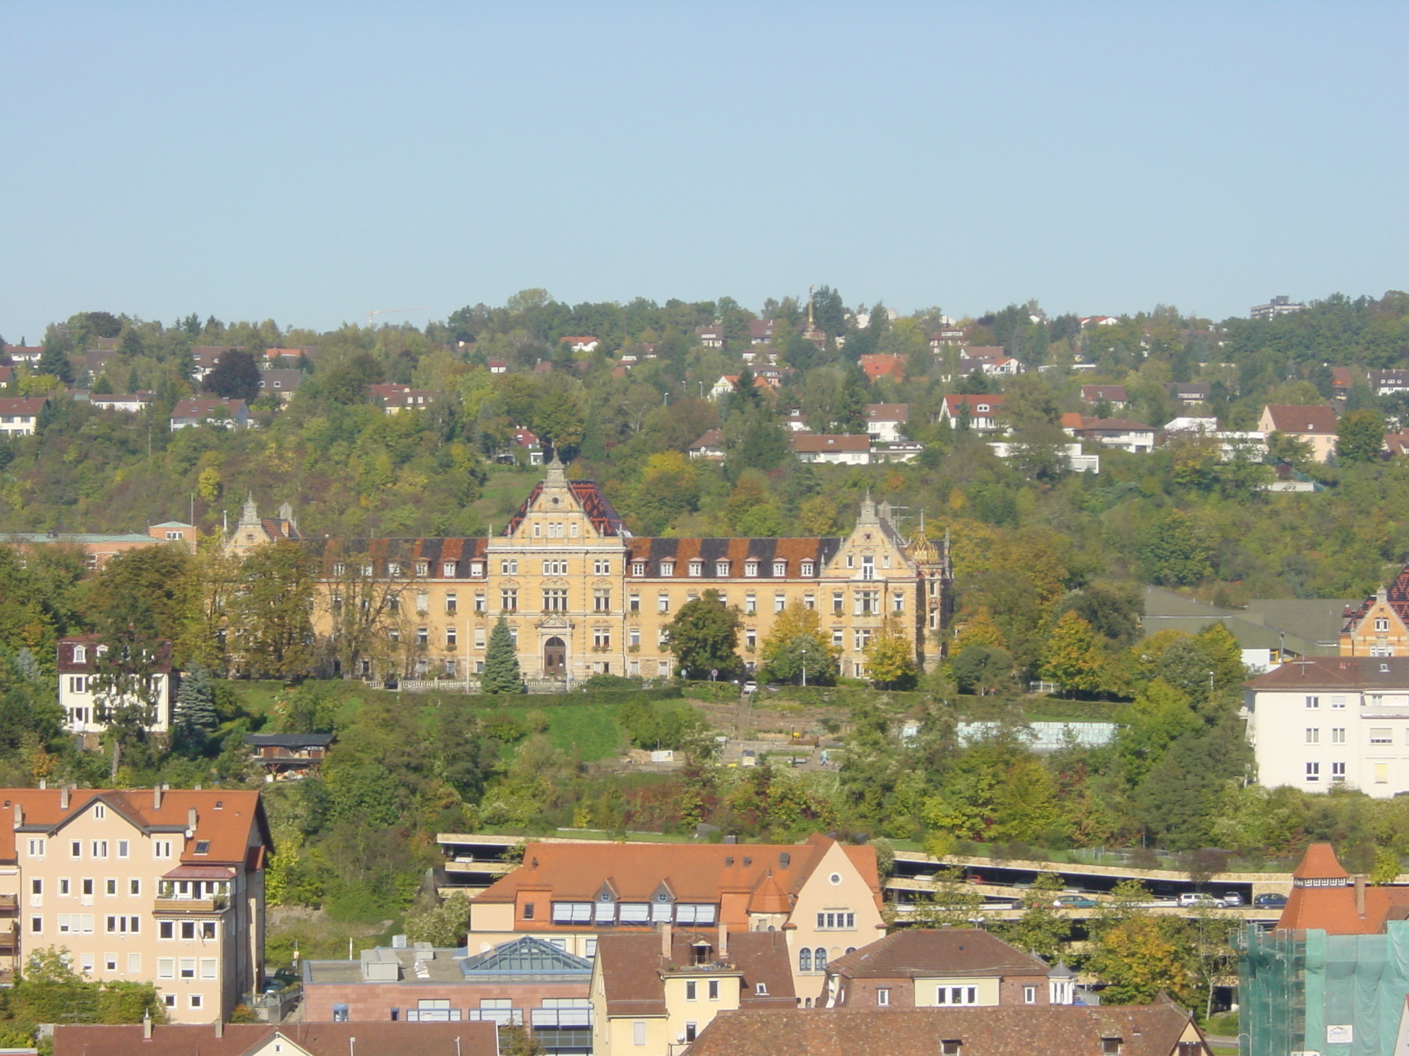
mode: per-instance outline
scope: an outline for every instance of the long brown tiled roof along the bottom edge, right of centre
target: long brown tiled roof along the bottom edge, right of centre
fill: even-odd
[[[1150,1005],[721,1012],[689,1056],[1212,1056],[1198,1024]]]

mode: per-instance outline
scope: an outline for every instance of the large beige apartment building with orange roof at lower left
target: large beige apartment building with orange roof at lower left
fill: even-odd
[[[6,970],[55,948],[101,981],[152,983],[172,1022],[228,1018],[262,983],[256,791],[4,788],[0,914]],[[10,976],[13,979],[13,974]]]

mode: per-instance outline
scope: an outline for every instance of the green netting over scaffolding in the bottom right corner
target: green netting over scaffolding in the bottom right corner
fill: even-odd
[[[1394,1056],[1409,994],[1409,921],[1384,935],[1239,938],[1240,1056]]]

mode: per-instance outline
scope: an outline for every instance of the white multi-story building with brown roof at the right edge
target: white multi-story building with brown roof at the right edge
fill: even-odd
[[[1316,656],[1246,683],[1258,781],[1409,791],[1409,656]]]

